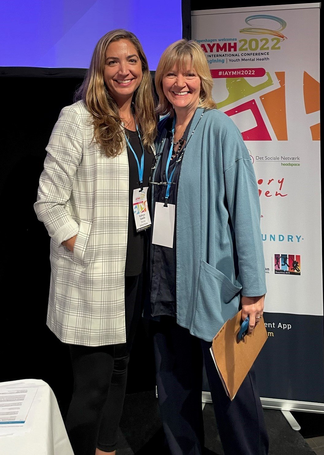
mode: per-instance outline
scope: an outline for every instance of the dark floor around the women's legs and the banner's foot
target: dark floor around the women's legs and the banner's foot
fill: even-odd
[[[324,455],[323,414],[294,413],[301,426],[301,430],[296,431],[290,427],[280,410],[263,411],[270,441],[269,455]],[[296,414],[299,416],[296,417]],[[203,404],[203,418],[206,455],[223,455],[212,404]],[[163,443],[155,392],[127,394],[116,455],[167,455]]]

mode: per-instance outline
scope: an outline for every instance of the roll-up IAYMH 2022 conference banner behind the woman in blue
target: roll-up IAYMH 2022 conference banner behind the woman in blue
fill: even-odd
[[[268,340],[255,363],[262,403],[314,412],[324,412],[319,7],[192,11],[213,98],[241,131],[258,182],[268,289]]]

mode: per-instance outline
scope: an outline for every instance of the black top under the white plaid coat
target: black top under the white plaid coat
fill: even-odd
[[[141,165],[142,146],[137,131],[130,131],[125,128],[127,138],[136,153],[138,162]],[[125,276],[139,275],[142,272],[144,260],[144,241],[147,236],[145,231],[137,232],[133,212],[133,190],[140,187],[137,162],[132,150],[127,145],[128,167],[129,167],[129,212],[128,212],[128,235]],[[153,152],[144,149],[144,172],[143,187],[148,187],[148,180],[151,173]]]

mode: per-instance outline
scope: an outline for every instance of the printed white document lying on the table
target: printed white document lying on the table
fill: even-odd
[[[38,388],[24,382],[0,385],[0,436],[30,431],[28,414]]]

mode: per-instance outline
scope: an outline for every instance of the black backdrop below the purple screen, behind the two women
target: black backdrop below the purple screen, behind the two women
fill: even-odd
[[[50,237],[33,204],[45,147],[63,106],[73,103],[84,69],[1,68],[2,341],[0,382],[43,379],[64,415],[73,386],[69,350],[46,326]],[[127,393],[155,389],[152,345],[140,322]]]

